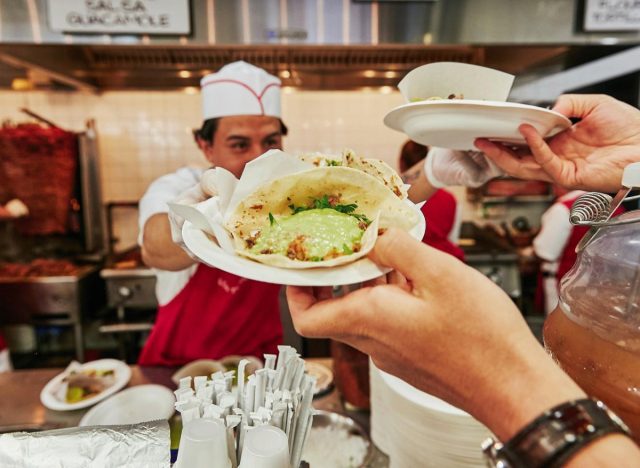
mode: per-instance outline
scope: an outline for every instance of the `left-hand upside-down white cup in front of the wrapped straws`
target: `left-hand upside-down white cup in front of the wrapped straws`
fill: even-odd
[[[231,468],[224,423],[194,419],[182,429],[176,468]]]

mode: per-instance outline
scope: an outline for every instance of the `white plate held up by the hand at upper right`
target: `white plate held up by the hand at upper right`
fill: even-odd
[[[476,138],[526,144],[518,127],[532,125],[545,138],[571,126],[571,121],[549,109],[513,102],[441,100],[396,107],[384,123],[427,146],[475,150]]]

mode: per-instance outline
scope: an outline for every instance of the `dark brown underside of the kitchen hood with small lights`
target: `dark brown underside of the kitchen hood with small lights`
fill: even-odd
[[[16,77],[39,89],[88,92],[181,89],[234,60],[278,75],[285,86],[340,90],[395,86],[411,69],[455,61],[521,73],[563,56],[564,46],[104,46],[0,44],[0,88]]]

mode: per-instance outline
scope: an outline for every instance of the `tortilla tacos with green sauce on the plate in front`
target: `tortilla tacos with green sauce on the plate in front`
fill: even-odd
[[[351,151],[340,161],[303,158],[317,167],[259,187],[227,220],[240,255],[288,268],[336,266],[366,255],[378,229],[417,224],[401,179],[384,162]]]

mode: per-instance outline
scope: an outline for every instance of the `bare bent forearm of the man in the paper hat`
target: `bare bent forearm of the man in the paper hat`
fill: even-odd
[[[166,214],[153,215],[144,225],[142,260],[147,266],[167,271],[179,271],[195,263],[171,239],[171,226]]]

